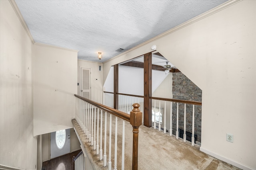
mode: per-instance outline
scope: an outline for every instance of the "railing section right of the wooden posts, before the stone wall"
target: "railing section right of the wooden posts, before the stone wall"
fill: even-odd
[[[181,127],[183,127],[183,141],[186,142],[186,130],[191,131],[191,145],[194,146],[195,143],[195,105],[201,106],[201,102],[193,102],[186,100],[175,100],[175,99],[166,99],[166,98],[154,98],[152,97],[152,126],[156,129],[158,125],[158,130],[166,133],[166,129],[169,129],[169,135],[176,135],[176,139],[179,139],[179,133]],[[173,108],[175,107],[176,113],[173,112]],[[187,108],[192,108],[192,113],[188,113]],[[173,122],[174,114],[176,115],[176,122]],[[181,115],[183,116],[183,123],[179,123],[181,120]],[[186,120],[188,120],[188,115],[190,115],[189,119],[192,121],[192,127],[187,129]],[[180,117],[180,119],[179,119]],[[161,125],[164,127],[161,129]],[[173,127],[176,125],[176,129]],[[168,128],[169,127],[169,128]],[[173,131],[176,133],[173,134]]]

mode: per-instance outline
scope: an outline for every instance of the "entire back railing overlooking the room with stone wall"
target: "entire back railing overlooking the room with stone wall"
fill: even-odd
[[[107,106],[113,106],[114,104],[114,93],[104,92],[104,103]],[[201,107],[201,102],[193,102],[186,100],[176,100],[176,99],[167,99],[167,98],[155,98],[152,99],[152,126],[158,131],[163,131],[164,133],[168,132],[169,135],[176,136],[179,139],[179,134],[183,129],[183,141],[187,141],[186,131],[191,133],[191,143],[194,146],[195,143],[195,105]],[[109,101],[110,100],[110,101]],[[118,94],[118,109],[129,113],[132,109],[132,103],[139,103],[140,110],[142,111],[142,124],[144,123],[144,98],[143,96],[129,95],[129,94]],[[176,109],[176,113],[173,112],[173,109]],[[189,109],[187,109],[189,108]],[[193,109],[190,109],[193,108]],[[191,110],[191,111],[190,111]],[[175,115],[174,115],[175,114]],[[192,116],[188,116],[192,115]],[[176,118],[175,118],[176,116]],[[183,119],[183,121],[182,121]],[[186,125],[186,121],[192,122],[192,127]],[[182,123],[183,122],[183,123]],[[200,137],[200,134],[197,137]]]

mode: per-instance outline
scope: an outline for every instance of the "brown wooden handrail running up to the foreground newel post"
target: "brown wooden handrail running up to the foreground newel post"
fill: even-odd
[[[115,115],[115,116],[117,116],[117,117],[120,117],[121,119],[124,119],[124,120],[130,122],[130,115],[129,115],[128,113],[119,111],[119,110],[117,110],[117,109],[113,109],[113,108],[108,107],[108,106],[105,106],[105,105],[103,105],[103,104],[99,104],[99,103],[94,102],[94,101],[92,101],[92,100],[86,99],[86,98],[84,98],[84,97],[82,97],[82,96],[78,96],[77,94],[75,94],[75,96],[76,96],[77,98],[80,98],[80,99],[82,99],[82,100],[84,100],[84,101],[90,103],[90,104],[93,104],[94,106],[96,106],[96,107],[98,107],[98,108],[100,108],[100,109],[102,109],[102,110],[107,111],[108,113],[111,113],[111,114],[113,114],[113,115]]]

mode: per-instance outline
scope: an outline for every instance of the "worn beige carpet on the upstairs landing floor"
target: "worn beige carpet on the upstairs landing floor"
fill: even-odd
[[[109,115],[107,121],[109,122]],[[103,114],[104,120],[104,114]],[[118,118],[118,151],[117,169],[121,169],[121,152],[122,152],[122,120]],[[96,150],[89,143],[89,140],[83,133],[75,119],[72,119],[81,141],[84,144],[88,158],[95,170],[107,169],[103,167],[103,161],[99,160]],[[104,127],[104,123],[103,123]],[[112,149],[111,160],[112,169],[114,169],[114,128],[115,116],[112,116]],[[102,149],[104,152],[104,130],[102,132]],[[107,123],[107,160],[108,160],[108,141],[109,141],[109,123]],[[140,126],[138,146],[138,169],[139,170],[239,170],[226,162],[218,160],[199,150],[199,146],[191,146],[190,142],[183,142],[170,136],[168,133],[158,131],[154,128]],[[132,169],[132,125],[125,121],[125,170]]]

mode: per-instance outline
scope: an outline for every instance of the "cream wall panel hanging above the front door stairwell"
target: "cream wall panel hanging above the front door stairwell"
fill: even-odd
[[[35,43],[34,135],[73,127],[77,51]]]

